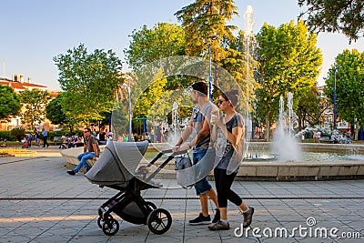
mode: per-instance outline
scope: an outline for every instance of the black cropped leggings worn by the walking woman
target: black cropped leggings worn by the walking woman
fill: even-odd
[[[237,206],[239,206],[243,202],[243,200],[238,197],[238,195],[230,188],[237,174],[238,172],[227,175],[226,169],[214,169],[215,184],[217,187],[217,201],[219,208],[227,208],[227,200]]]

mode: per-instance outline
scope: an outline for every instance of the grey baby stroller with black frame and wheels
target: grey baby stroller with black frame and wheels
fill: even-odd
[[[157,235],[164,234],[172,225],[169,212],[146,201],[141,197],[140,191],[160,187],[150,183],[151,179],[173,157],[186,152],[171,154],[147,177],[147,167],[151,167],[164,154],[172,153],[172,150],[160,152],[147,164],[147,167],[139,167],[137,170],[139,173],[134,173],[147,151],[147,146],[147,141],[135,143],[110,141],[97,163],[85,175],[91,183],[100,187],[119,190],[114,197],[98,208],[97,225],[107,236],[115,235],[119,229],[119,223],[111,216],[112,212],[130,223],[147,225],[150,231]]]

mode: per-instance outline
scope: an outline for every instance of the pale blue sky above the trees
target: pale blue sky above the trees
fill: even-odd
[[[124,61],[123,50],[129,35],[143,25],[177,23],[174,15],[192,0],[1,0],[0,76],[30,77],[32,83],[59,89],[58,70],[53,57],[66,54],[79,44],[92,53],[96,48],[112,49]],[[253,7],[254,33],[261,26],[282,25],[297,20],[301,9],[297,0],[236,0],[239,16],[231,24],[244,29],[244,12]],[[344,49],[364,51],[364,38],[349,45],[342,34],[320,33],[317,46],[323,55],[318,84],[324,85],[329,66]],[[5,62],[4,62],[5,60]],[[123,70],[127,71],[126,64]]]

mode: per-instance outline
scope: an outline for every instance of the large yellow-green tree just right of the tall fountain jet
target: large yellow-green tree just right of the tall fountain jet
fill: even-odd
[[[265,23],[257,41],[257,79],[261,86],[256,92],[257,115],[265,120],[268,139],[270,123],[278,116],[279,96],[291,92],[297,108],[298,94],[307,92],[319,76],[322,56],[316,46],[317,35],[309,34],[303,21],[297,25],[291,21],[278,28]]]

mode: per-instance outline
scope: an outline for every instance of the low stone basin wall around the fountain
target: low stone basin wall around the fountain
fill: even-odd
[[[269,149],[271,143],[250,143],[249,150]],[[333,144],[299,144],[302,151],[339,152],[352,151],[364,154],[362,145],[333,145]],[[160,151],[169,148],[168,144],[150,144],[148,151]],[[67,167],[78,164],[76,156],[83,148],[66,149],[61,152],[66,160]],[[174,163],[170,163],[157,178],[176,178]],[[212,175],[212,174],[211,174]],[[336,179],[363,179],[364,161],[361,160],[332,160],[332,161],[248,161],[244,160],[239,168],[237,180],[336,180]]]

